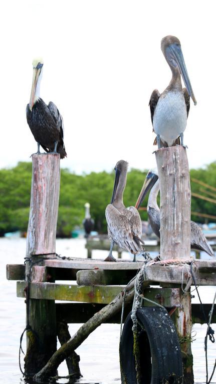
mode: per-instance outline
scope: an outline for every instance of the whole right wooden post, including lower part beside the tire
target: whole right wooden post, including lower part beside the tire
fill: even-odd
[[[186,149],[181,145],[160,148],[156,150],[155,156],[160,184],[160,258],[183,261],[190,258],[191,192]],[[184,384],[192,384],[189,291],[181,294],[180,303],[175,311],[174,322],[181,342]]]

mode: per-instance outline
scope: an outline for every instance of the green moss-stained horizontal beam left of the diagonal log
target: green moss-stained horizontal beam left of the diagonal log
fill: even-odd
[[[17,296],[25,297],[26,282],[17,281]],[[43,300],[86,301],[108,304],[124,287],[120,285],[79,286],[52,282],[31,282],[30,298]]]

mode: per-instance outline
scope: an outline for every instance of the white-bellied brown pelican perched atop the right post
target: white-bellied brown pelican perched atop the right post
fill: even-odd
[[[183,145],[183,132],[187,124],[190,97],[196,105],[180,41],[175,36],[163,37],[161,50],[172,71],[172,78],[161,94],[157,89],[154,89],[149,101],[151,121],[153,131],[157,135],[158,148],[180,143],[179,136],[181,145]],[[186,86],[183,89],[181,75]]]

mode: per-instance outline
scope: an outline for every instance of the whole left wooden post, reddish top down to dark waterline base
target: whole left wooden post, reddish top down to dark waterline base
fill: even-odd
[[[56,226],[60,188],[60,155],[32,155],[32,189],[27,232],[26,281],[47,281],[43,259],[56,252]],[[28,285],[27,285],[28,286]],[[27,353],[25,373],[34,375],[56,350],[56,307],[54,300],[27,302]]]

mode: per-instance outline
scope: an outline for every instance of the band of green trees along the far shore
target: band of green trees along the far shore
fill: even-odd
[[[127,176],[124,192],[125,206],[134,205],[142,187],[147,170],[131,169]],[[13,168],[0,169],[0,235],[9,231],[27,231],[31,193],[32,163],[19,162]],[[191,179],[198,179],[216,187],[216,161],[209,165],[190,170]],[[95,220],[95,230],[107,232],[105,208],[110,202],[114,183],[114,171],[91,172],[78,175],[68,169],[61,169],[58,236],[71,236],[76,226],[82,227],[85,215],[85,202],[91,204],[91,216]],[[191,180],[191,191],[215,199],[206,201],[191,198],[191,211],[216,216],[216,189],[208,189]],[[147,205],[147,197],[143,206]],[[147,220],[147,212],[140,211],[141,218]],[[216,221],[192,215],[196,222]]]

